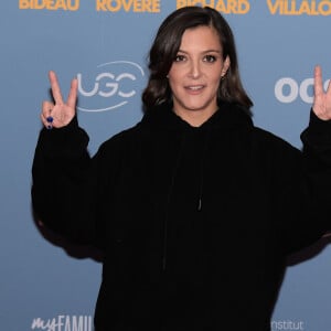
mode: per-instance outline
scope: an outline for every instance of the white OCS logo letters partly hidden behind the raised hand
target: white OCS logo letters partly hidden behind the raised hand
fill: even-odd
[[[330,79],[324,83],[324,89],[328,88]],[[284,104],[290,104],[300,98],[303,103],[313,102],[313,78],[306,78],[298,83],[293,78],[284,77],[276,82],[275,96]]]

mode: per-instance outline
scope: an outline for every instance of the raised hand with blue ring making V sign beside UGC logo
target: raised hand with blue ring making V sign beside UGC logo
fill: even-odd
[[[64,103],[56,74],[51,71],[49,73],[49,78],[55,104],[51,102],[43,102],[41,120],[49,129],[52,127],[62,128],[68,125],[76,115],[78,82],[77,78],[72,81],[67,100]]]

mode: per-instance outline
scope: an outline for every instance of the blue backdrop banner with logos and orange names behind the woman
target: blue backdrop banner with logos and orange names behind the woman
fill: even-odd
[[[141,118],[147,55],[161,21],[195,4],[215,8],[233,28],[255,124],[300,148],[313,66],[322,66],[325,85],[331,76],[330,0],[1,2],[0,330],[93,330],[98,253],[64,243],[40,226],[31,210],[47,72],[56,71],[64,94],[78,77],[78,118],[95,153],[100,142]],[[331,330],[328,238],[289,258],[271,330]]]

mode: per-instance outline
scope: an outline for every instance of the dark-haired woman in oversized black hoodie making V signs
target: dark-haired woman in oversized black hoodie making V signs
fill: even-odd
[[[149,67],[142,120],[93,158],[77,81],[64,102],[50,73],[34,210],[103,249],[97,331],[267,331],[287,255],[330,228],[331,87],[317,67],[301,152],[254,127],[233,34],[215,10],[170,14]]]

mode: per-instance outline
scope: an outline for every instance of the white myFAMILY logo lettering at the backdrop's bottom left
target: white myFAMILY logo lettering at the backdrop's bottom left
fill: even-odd
[[[43,320],[36,318],[32,321],[31,330],[45,331],[93,331],[93,318],[90,316],[65,316]]]

